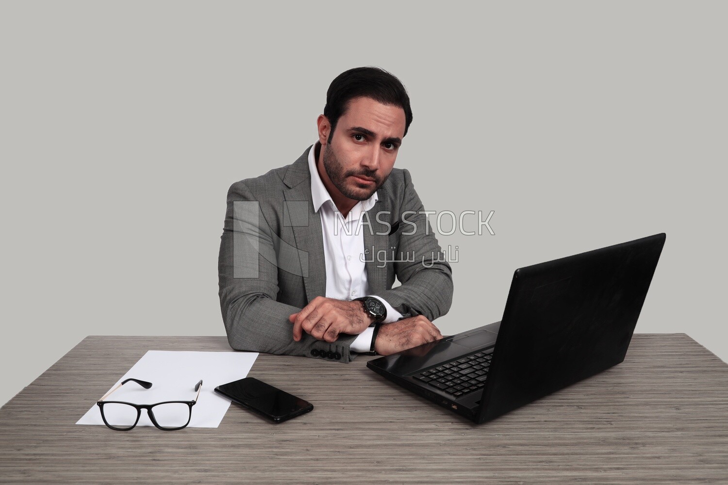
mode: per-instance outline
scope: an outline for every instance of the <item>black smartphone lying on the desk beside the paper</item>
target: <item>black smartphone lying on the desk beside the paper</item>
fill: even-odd
[[[273,422],[283,422],[314,409],[313,404],[266,384],[255,377],[218,385],[215,392],[231,398],[238,404],[263,414]]]

